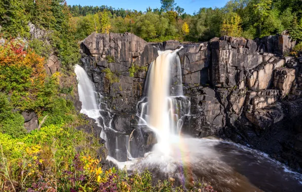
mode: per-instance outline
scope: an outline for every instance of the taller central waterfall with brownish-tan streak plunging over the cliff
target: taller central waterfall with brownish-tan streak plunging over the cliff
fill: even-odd
[[[175,136],[180,133],[182,119],[185,115],[190,115],[190,101],[182,93],[178,51],[159,51],[159,57],[148,70],[146,102],[140,103],[141,124],[157,133],[158,143],[155,148],[166,155],[171,153],[170,143],[177,142]]]

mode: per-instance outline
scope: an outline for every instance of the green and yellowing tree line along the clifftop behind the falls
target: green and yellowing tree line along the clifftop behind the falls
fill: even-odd
[[[174,0],[161,3],[160,9],[147,8],[145,12],[80,5],[69,6],[69,10],[80,39],[93,31],[104,32],[103,28],[131,32],[147,41],[205,41],[222,35],[254,39],[284,30],[294,39],[302,39],[300,0],[231,0],[222,8],[200,8],[193,15],[184,13]]]

